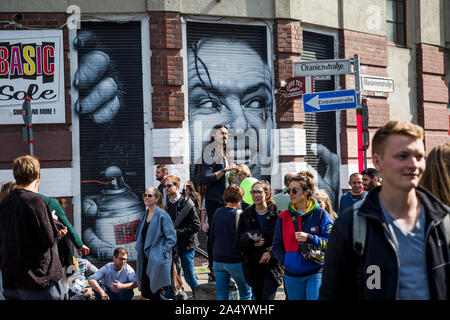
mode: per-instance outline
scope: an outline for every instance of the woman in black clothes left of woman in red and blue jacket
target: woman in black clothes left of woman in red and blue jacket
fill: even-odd
[[[272,254],[272,239],[278,209],[269,182],[259,180],[252,186],[253,205],[239,218],[237,246],[241,252],[245,280],[255,300],[274,300],[283,283],[283,270]]]

